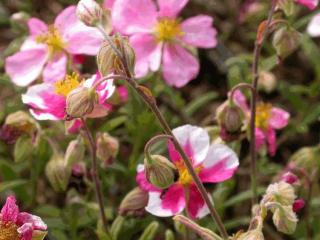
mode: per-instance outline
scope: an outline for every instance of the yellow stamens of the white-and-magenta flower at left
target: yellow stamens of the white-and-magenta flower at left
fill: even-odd
[[[79,75],[77,73],[72,73],[71,75],[67,75],[64,79],[54,84],[55,92],[58,95],[66,97],[68,96],[69,92],[80,85],[80,82],[81,80],[79,79]]]

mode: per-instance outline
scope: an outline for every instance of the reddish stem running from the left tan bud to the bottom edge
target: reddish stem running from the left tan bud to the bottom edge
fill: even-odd
[[[108,236],[109,239],[111,238],[111,234],[109,231],[108,227],[108,221],[107,217],[104,211],[104,203],[103,203],[103,194],[102,194],[102,189],[101,189],[101,182],[99,178],[99,172],[98,172],[98,165],[97,165],[97,146],[96,142],[87,126],[86,120],[81,118],[82,124],[83,124],[83,130],[88,138],[89,145],[90,145],[90,152],[91,152],[91,160],[92,160],[92,177],[93,181],[95,184],[95,191],[96,191],[96,198],[99,204],[99,210],[100,210],[100,215],[102,219],[102,224],[104,227],[104,230]]]

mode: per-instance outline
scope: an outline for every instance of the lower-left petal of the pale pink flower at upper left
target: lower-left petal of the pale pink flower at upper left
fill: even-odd
[[[6,58],[5,71],[16,85],[25,87],[40,76],[46,61],[45,49],[20,51]]]

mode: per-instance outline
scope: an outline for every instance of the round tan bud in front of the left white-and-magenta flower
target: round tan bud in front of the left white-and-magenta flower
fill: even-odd
[[[92,88],[78,87],[72,90],[66,100],[67,117],[81,118],[92,113],[98,95]]]

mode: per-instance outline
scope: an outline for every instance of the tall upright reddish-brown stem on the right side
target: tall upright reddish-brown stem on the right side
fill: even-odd
[[[253,64],[252,64],[252,97],[251,97],[251,107],[250,107],[250,156],[251,156],[251,189],[252,189],[252,205],[256,204],[257,199],[257,152],[255,143],[255,129],[256,129],[256,105],[258,98],[258,80],[259,80],[259,60],[261,55],[262,45],[269,33],[270,26],[272,23],[272,17],[275,12],[277,0],[272,0],[271,9],[269,11],[268,19],[265,23],[262,32],[257,34],[257,39],[255,41],[254,53],[253,53]]]

